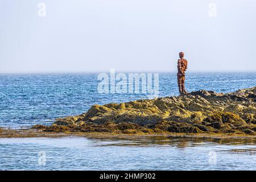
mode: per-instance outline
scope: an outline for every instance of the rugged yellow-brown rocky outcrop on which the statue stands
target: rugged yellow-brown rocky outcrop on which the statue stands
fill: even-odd
[[[185,96],[93,105],[57,119],[45,131],[256,134],[256,87],[234,93],[207,90]]]

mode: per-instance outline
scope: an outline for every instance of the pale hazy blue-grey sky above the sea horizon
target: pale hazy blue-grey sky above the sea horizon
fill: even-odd
[[[179,51],[188,71],[256,71],[255,22],[255,0],[0,0],[0,72],[173,72]]]

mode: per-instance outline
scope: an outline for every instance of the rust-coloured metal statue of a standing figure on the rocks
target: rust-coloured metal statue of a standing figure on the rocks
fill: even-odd
[[[185,60],[184,57],[184,52],[179,53],[180,59],[178,60],[177,63],[177,82],[179,86],[179,92],[181,95],[187,94],[188,92],[185,90],[185,71],[188,68],[188,61]]]

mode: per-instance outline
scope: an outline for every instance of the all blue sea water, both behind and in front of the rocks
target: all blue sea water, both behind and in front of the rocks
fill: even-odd
[[[0,127],[51,125],[94,104],[127,102],[148,94],[98,93],[98,73],[0,74]],[[234,92],[256,86],[256,72],[187,73],[189,92]],[[159,73],[159,97],[178,95],[176,73]],[[43,156],[44,160],[41,160]],[[178,138],[0,139],[0,169],[256,170],[255,140],[221,142]]]

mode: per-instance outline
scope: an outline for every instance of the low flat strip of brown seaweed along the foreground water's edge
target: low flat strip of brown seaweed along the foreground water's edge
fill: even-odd
[[[199,138],[199,139],[255,139],[255,135],[245,134],[193,134],[193,133],[159,133],[159,134],[123,134],[123,133],[85,133],[85,132],[45,132],[35,129],[1,129],[0,138],[63,138],[63,137],[84,137],[84,138],[117,138],[117,139],[133,139],[133,138]]]

